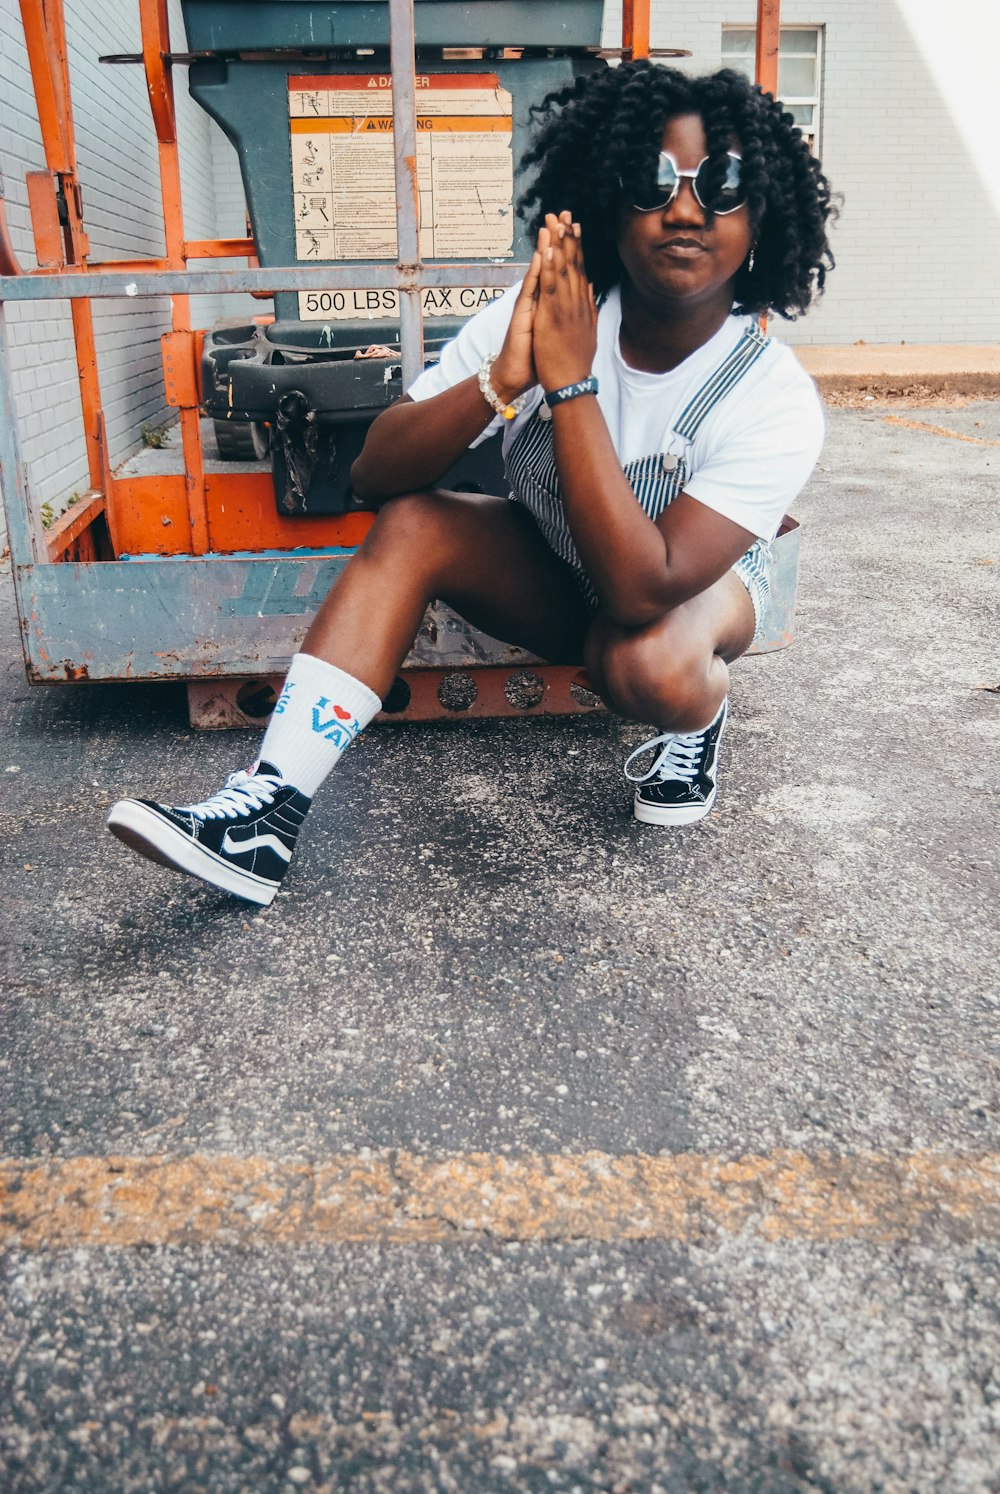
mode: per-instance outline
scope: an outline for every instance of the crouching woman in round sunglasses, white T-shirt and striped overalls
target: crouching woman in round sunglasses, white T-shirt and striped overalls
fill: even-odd
[[[142,855],[271,902],[435,598],[583,662],[610,710],[656,723],[650,768],[629,774],[640,820],[709,813],[729,665],[822,444],[810,379],[753,314],[791,317],[822,290],[830,187],[791,117],[732,72],[632,63],[535,114],[525,281],[374,421],[353,483],[384,506],[291,662],[257,763],[200,804],[112,808]],[[433,487],[499,429],[510,499]]]

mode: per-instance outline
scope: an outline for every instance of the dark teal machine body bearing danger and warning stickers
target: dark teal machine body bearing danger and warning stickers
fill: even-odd
[[[362,506],[351,462],[372,417],[402,393],[399,296],[363,270],[398,257],[389,9],[359,0],[182,0],[182,9],[188,88],[236,148],[260,264],[357,264],[345,290],[278,291],[274,321],[206,333],[203,408],[223,450],[269,456],[278,512],[350,512]],[[607,66],[602,10],[602,0],[416,0],[419,251],[469,266],[466,284],[420,293],[425,357],[502,293],[481,284],[477,264],[531,257],[514,214],[529,109]],[[466,453],[442,481],[496,492],[496,442]]]

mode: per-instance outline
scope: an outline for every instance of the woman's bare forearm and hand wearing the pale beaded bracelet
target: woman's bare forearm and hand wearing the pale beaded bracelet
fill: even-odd
[[[505,402],[535,384],[531,326],[540,267],[541,255],[535,252],[492,369],[493,388]],[[404,394],[372,421],[351,468],[354,492],[368,502],[380,502],[430,487],[486,430],[493,415],[474,376],[433,399],[417,402]]]

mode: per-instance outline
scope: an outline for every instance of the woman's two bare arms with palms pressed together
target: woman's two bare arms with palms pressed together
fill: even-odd
[[[549,214],[490,369],[495,393],[510,403],[537,384],[552,393],[586,379],[596,354],[596,321],[580,229],[568,212]],[[383,503],[433,489],[490,420],[490,402],[475,374],[426,400],[404,396],[372,421],[351,468],[354,492]],[[752,533],[683,493],[653,523],[634,500],[592,399],[558,405],[552,433],[567,523],[616,626],[656,623],[717,581],[752,544]],[[450,495],[451,500],[457,496]],[[419,616],[411,622],[416,629]]]

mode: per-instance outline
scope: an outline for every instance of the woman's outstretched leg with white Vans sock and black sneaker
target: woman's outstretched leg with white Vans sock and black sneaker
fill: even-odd
[[[262,771],[179,808],[123,799],[108,828],[151,861],[266,907],[312,796],[389,692],[433,598],[543,657],[583,659],[580,589],[528,514],[463,493],[393,499],[306,633]]]

